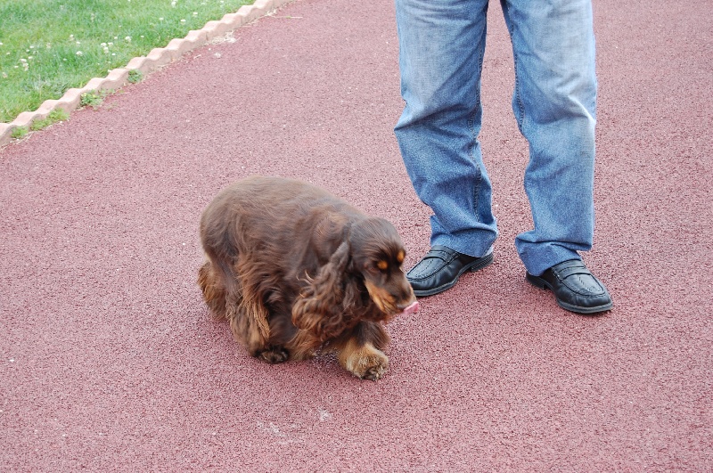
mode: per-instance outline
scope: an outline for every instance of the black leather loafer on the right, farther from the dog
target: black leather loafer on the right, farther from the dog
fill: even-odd
[[[525,279],[538,288],[553,291],[557,305],[570,312],[594,314],[612,306],[607,289],[580,259],[553,265],[541,276],[527,273]]]

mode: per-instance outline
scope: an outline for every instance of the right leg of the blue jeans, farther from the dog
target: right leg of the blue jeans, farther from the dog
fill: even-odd
[[[529,142],[535,228],[518,235],[528,273],[579,259],[594,235],[596,77],[590,0],[502,0],[512,38],[512,110]]]

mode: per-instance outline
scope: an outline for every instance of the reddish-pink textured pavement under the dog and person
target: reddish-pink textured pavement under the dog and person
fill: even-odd
[[[392,2],[298,0],[101,110],[0,150],[3,471],[710,471],[713,4],[595,0],[597,231],[614,298],[530,287],[527,146],[489,15],[494,265],[389,325],[390,371],[271,366],[195,284],[202,208],[254,173],[327,187],[428,246],[392,133]]]

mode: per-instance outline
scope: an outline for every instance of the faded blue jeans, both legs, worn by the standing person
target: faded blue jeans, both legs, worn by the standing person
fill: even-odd
[[[502,0],[515,61],[512,110],[529,143],[534,229],[515,247],[528,272],[579,258],[594,234],[596,77],[590,0]],[[478,141],[488,0],[396,0],[401,94],[395,133],[431,245],[481,257],[497,237]]]

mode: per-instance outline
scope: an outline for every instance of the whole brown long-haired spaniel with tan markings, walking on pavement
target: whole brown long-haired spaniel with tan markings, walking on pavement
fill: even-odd
[[[359,378],[388,367],[383,322],[415,302],[392,224],[308,183],[251,176],[201,216],[210,311],[267,363],[337,354]]]

